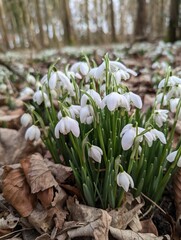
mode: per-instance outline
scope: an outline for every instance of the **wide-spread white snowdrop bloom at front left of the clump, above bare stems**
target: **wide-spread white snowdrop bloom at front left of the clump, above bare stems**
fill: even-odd
[[[59,138],[60,133],[66,135],[69,132],[72,132],[72,134],[75,137],[79,137],[80,135],[79,124],[75,119],[72,119],[68,116],[62,117],[62,119],[57,123],[55,127],[55,137]]]

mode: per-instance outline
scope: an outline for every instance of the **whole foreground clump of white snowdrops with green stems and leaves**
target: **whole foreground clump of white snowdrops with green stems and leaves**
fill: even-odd
[[[168,69],[154,106],[143,112],[140,96],[125,84],[136,72],[107,55],[100,66],[85,60],[65,72],[56,63],[49,68],[21,118],[31,125],[26,140],[41,137],[56,163],[72,167],[90,206],[119,207],[130,188],[158,202],[181,166],[180,143],[172,147],[181,119],[181,79]]]

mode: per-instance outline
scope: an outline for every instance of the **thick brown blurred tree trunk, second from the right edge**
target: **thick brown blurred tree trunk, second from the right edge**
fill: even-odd
[[[137,0],[137,16],[134,34],[136,39],[145,37],[146,20],[146,0]]]

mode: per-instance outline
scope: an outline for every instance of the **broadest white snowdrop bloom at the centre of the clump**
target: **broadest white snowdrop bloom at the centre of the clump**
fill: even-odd
[[[119,107],[126,108],[127,111],[130,110],[130,105],[126,97],[117,92],[112,92],[104,97],[102,100],[102,108],[105,106],[107,106],[109,111],[114,111]]]

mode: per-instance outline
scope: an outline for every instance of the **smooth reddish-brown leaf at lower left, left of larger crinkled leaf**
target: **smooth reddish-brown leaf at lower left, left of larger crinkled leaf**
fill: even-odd
[[[5,167],[3,196],[21,216],[27,217],[32,212],[36,197],[31,194],[22,169]]]

